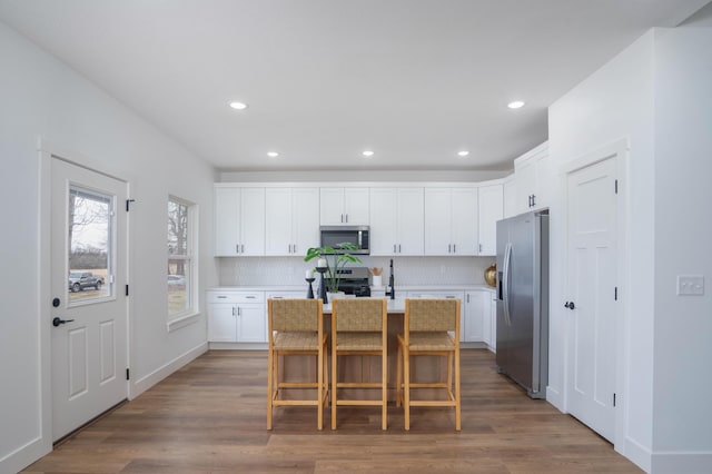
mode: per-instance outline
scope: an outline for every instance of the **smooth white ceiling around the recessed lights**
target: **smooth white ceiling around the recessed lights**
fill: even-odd
[[[484,170],[708,1],[0,0],[0,20],[219,169]]]

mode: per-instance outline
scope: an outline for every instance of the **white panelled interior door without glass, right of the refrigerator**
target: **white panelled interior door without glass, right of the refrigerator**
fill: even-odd
[[[567,177],[568,412],[613,442],[617,195],[615,158]]]

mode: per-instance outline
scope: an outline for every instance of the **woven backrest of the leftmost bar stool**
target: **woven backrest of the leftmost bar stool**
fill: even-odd
[[[324,325],[320,299],[268,299],[269,330],[320,332]]]

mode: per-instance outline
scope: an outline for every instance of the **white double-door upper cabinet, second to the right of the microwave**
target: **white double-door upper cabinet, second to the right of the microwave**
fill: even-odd
[[[425,255],[477,255],[477,188],[425,189]]]

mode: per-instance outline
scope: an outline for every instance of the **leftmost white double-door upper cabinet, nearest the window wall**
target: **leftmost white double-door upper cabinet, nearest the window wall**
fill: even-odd
[[[265,255],[265,188],[215,188],[215,255]]]

